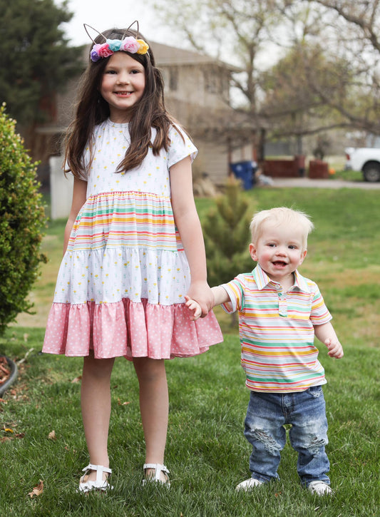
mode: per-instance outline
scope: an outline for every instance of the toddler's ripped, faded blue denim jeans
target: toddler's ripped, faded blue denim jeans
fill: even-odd
[[[329,484],[329,459],[324,451],[327,440],[326,407],[322,386],[294,393],[251,391],[245,419],[245,437],[252,444],[252,478],[270,481],[278,478],[280,453],[289,430],[290,444],[298,452],[297,472],[301,483],[321,480]]]

